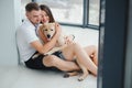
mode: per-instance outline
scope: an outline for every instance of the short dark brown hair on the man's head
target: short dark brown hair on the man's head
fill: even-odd
[[[40,6],[36,2],[30,2],[25,6],[25,11],[31,12],[32,10],[40,10]]]

